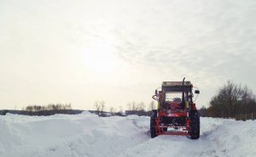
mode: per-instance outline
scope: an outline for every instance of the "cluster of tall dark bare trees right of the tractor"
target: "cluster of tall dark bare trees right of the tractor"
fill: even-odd
[[[236,115],[256,113],[256,97],[247,87],[227,81],[212,97],[210,106],[200,109],[201,116],[235,118]]]

